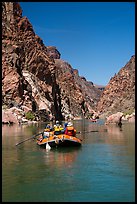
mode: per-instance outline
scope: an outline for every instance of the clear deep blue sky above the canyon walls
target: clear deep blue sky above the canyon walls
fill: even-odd
[[[94,84],[110,78],[135,54],[134,2],[20,2],[45,46]]]

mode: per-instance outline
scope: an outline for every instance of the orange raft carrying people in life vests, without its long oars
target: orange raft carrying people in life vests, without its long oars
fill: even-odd
[[[41,147],[61,147],[61,146],[80,146],[81,139],[76,137],[76,129],[71,122],[65,123],[64,127],[56,121],[52,128],[49,124],[44,132],[37,139],[37,144]]]

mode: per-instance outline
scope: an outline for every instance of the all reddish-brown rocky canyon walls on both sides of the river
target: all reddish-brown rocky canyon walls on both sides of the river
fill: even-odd
[[[92,57],[92,56],[91,56]],[[34,120],[90,118],[135,109],[135,55],[103,87],[44,45],[17,2],[2,2],[2,106]]]

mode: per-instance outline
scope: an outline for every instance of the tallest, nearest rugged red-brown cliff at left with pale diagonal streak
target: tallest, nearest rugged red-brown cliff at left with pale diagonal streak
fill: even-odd
[[[2,3],[2,97],[4,104],[25,105],[33,111],[54,109],[54,60],[18,3]]]

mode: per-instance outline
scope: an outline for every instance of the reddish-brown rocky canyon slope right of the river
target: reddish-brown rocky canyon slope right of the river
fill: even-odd
[[[102,115],[135,109],[135,55],[112,77],[96,110]]]

